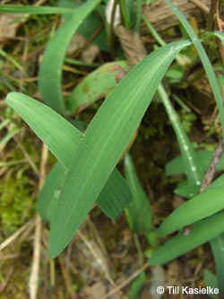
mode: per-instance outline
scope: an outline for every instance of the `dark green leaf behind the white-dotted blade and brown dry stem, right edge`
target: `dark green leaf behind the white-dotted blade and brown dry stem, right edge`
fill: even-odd
[[[213,154],[212,151],[195,152],[196,161],[198,164],[200,164],[203,171],[206,171],[208,169],[209,164],[211,162],[212,154]],[[217,166],[217,171],[223,171],[223,170],[224,170],[224,157],[222,156]],[[181,156],[177,156],[176,158],[174,158],[173,160],[169,161],[166,164],[166,175],[176,175],[182,173],[185,173],[185,167]]]

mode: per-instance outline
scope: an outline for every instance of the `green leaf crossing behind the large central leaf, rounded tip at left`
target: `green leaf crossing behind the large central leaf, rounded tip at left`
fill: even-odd
[[[43,140],[49,150],[56,155],[59,162],[64,165],[65,169],[68,169],[73,159],[73,154],[75,154],[82,140],[80,131],[74,128],[54,110],[51,110],[46,105],[22,93],[9,93],[6,102],[13,110],[20,114],[22,119],[28,123],[37,136]],[[60,167],[56,166],[56,169],[57,175],[64,180],[64,175],[60,174]],[[58,173],[58,171],[60,173]],[[56,176],[55,171],[53,173],[54,175],[52,175],[52,177],[54,179],[54,176]],[[53,186],[51,186],[51,184],[53,184]],[[50,182],[47,183],[46,188],[53,189],[54,184],[54,181],[51,179]],[[41,198],[43,198],[43,196]],[[105,214],[115,220],[116,217],[122,213],[131,198],[131,191],[124,178],[115,170],[105,184],[104,189],[102,189],[97,203]],[[43,205],[45,205],[45,203]],[[49,206],[51,206],[51,201],[49,202]]]

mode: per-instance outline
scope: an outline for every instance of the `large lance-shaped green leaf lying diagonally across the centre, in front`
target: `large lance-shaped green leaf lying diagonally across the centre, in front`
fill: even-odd
[[[50,229],[52,258],[65,249],[82,224],[134,135],[168,66],[188,45],[189,41],[170,43],[145,57],[100,106],[66,175]]]

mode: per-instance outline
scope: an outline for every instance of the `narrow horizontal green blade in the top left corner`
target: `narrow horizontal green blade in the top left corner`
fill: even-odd
[[[0,13],[53,14],[72,12],[72,9],[64,7],[0,4]]]

